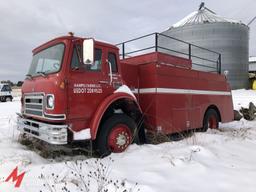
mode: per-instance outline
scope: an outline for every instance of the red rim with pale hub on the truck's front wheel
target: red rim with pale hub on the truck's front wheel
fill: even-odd
[[[116,125],[108,137],[108,147],[112,152],[123,152],[131,143],[132,133],[126,125]]]

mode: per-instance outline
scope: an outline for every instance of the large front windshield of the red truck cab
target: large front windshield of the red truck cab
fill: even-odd
[[[64,47],[64,44],[61,43],[35,54],[28,75],[36,76],[58,72],[61,67]]]

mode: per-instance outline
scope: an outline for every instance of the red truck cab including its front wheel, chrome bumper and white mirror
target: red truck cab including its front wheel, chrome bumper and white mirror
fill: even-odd
[[[39,46],[18,129],[51,144],[93,140],[101,154],[125,150],[141,113],[120,70],[118,48],[108,43],[71,35]]]

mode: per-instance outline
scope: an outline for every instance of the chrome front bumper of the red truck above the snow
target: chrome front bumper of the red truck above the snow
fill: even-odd
[[[17,117],[18,130],[50,144],[68,143],[68,125],[42,123],[22,116]]]

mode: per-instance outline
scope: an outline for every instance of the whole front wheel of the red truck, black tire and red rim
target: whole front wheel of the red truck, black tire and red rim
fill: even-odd
[[[125,114],[109,117],[101,126],[96,139],[96,147],[101,157],[111,153],[121,153],[133,141],[136,123]]]

